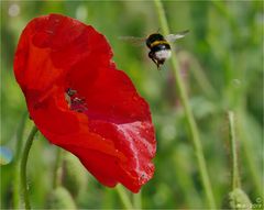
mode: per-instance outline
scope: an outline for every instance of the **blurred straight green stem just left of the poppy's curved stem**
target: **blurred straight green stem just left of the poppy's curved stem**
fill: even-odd
[[[16,132],[16,148],[15,148],[15,157],[14,157],[14,178],[13,178],[13,208],[20,208],[20,168],[19,162],[21,156],[21,147],[23,141],[23,133],[25,128],[25,120],[28,118],[28,112],[25,112],[20,121],[18,132]]]

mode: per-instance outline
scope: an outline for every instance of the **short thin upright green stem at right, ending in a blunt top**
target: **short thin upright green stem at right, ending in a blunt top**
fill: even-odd
[[[240,188],[240,175],[238,165],[238,147],[234,133],[234,114],[232,111],[228,112],[229,119],[229,140],[231,144],[231,155],[232,155],[232,189]]]

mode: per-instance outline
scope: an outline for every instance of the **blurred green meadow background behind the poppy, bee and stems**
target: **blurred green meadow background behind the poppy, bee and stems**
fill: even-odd
[[[221,206],[231,189],[228,110],[235,114],[242,188],[255,203],[263,196],[263,2],[163,3],[170,32],[190,30],[176,43],[175,51],[199,126],[217,205]],[[118,68],[130,76],[151,106],[157,137],[156,170],[142,188],[143,208],[207,207],[169,63],[157,71],[144,45],[119,40],[124,35],[146,36],[160,29],[152,1],[1,1],[1,145],[15,153],[15,133],[26,111],[12,71],[19,36],[31,19],[48,13],[76,18],[105,34]],[[26,122],[24,139],[31,124]],[[33,208],[48,207],[55,155],[56,146],[38,134],[28,165]],[[76,168],[70,170],[73,174],[78,172],[73,175],[76,180],[65,180],[78,208],[122,208],[117,190],[101,186],[80,164],[65,159]],[[14,166],[14,161],[1,166],[1,208],[13,208]],[[70,181],[74,183],[67,184]],[[67,194],[62,195],[67,198]]]

